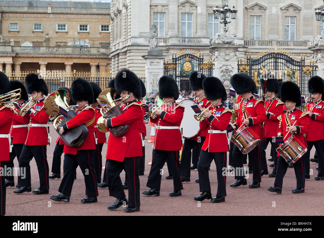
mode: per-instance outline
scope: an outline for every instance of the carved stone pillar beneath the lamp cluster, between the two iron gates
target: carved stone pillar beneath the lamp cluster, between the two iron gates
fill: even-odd
[[[210,54],[214,60],[213,75],[218,77],[226,91],[232,87],[229,80],[233,74],[237,74],[238,48],[244,45],[232,44],[211,44]]]

